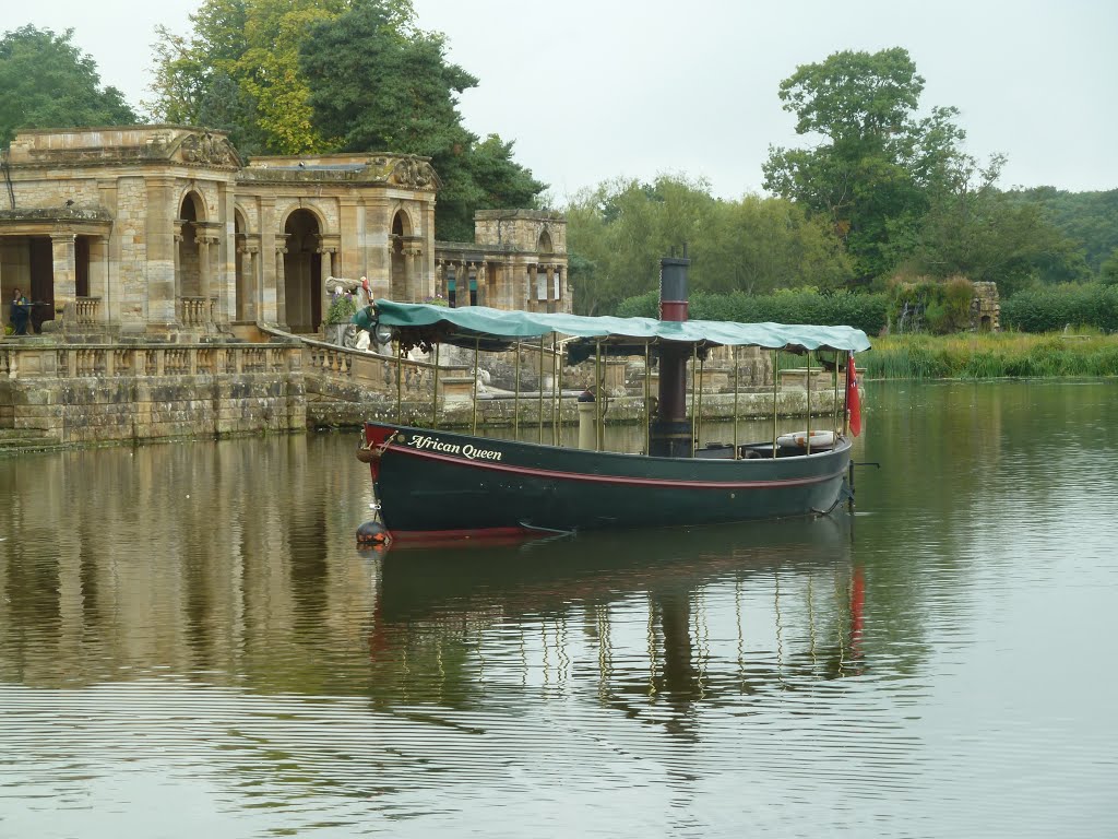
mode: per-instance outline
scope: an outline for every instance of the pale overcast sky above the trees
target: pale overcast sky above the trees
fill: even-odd
[[[186,34],[199,0],[12,3],[3,28],[75,30],[106,85],[149,94],[162,23]],[[618,176],[705,178],[761,191],[769,145],[798,145],[777,96],[797,65],[903,47],[921,113],[954,105],[967,150],[1008,157],[1002,186],[1118,188],[1116,0],[414,0],[480,84],[466,125],[515,141],[559,204]]]

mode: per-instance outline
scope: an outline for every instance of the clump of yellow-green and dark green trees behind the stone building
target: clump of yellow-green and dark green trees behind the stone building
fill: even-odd
[[[544,185],[512,143],[462,124],[477,84],[415,26],[410,0],[203,0],[193,34],[160,30],[149,103],[219,128],[246,154],[390,151],[429,157],[443,238],[472,239],[476,209],[524,207]]]

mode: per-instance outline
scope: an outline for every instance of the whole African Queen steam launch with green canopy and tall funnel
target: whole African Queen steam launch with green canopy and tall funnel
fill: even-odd
[[[391,337],[401,352],[442,343],[492,350],[561,336],[568,364],[636,355],[659,365],[659,399],[644,400],[656,408],[655,415],[646,408],[642,454],[366,423],[359,456],[370,463],[392,537],[708,525],[830,512],[844,493],[850,423],[783,441],[774,435],[700,447],[686,416],[686,361],[716,347],[830,356],[836,392],[837,370],[846,368],[849,412],[850,395],[856,394],[853,356],[869,349],[869,340],[850,327],[686,320],[686,264],[662,263],[660,320],[391,301],[359,312],[359,327]]]

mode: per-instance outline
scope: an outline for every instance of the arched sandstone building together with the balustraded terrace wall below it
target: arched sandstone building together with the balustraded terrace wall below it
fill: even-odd
[[[325,374],[304,378],[297,343],[244,341],[321,334],[330,276],[396,300],[570,311],[562,217],[479,213],[474,242],[437,242],[424,158],[246,163],[221,132],[142,125],[21,132],[0,163],[0,294],[35,302],[35,334],[0,343],[0,431],[302,430]]]

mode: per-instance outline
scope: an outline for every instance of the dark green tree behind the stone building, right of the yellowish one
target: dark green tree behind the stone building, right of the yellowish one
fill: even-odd
[[[401,25],[398,12],[361,2],[309,30],[300,67],[314,124],[340,151],[430,158],[439,237],[471,241],[475,210],[531,206],[546,185],[512,160],[511,142],[466,130],[457,97],[477,79],[446,60],[442,36]]]

